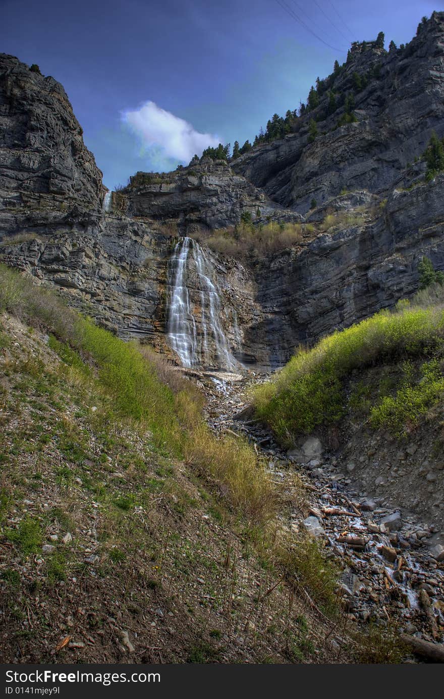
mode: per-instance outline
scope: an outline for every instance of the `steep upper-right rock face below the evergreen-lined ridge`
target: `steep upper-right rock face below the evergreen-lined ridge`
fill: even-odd
[[[373,75],[365,89],[354,73]],[[331,87],[337,102],[354,93],[356,123],[337,126],[328,94],[299,120],[298,131],[255,147],[232,167],[282,206],[305,214],[343,188],[378,192],[392,187],[424,152],[431,131],[444,135],[444,13],[433,13],[404,49],[386,53],[359,45]],[[318,134],[309,140],[309,120]]]

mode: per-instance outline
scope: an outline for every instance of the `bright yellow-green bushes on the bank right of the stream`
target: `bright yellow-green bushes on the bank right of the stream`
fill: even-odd
[[[300,349],[273,382],[253,392],[257,417],[273,429],[280,442],[291,445],[296,435],[310,433],[316,426],[331,424],[345,414],[348,403],[344,382],[352,370],[427,355],[443,344],[443,336],[441,308],[407,305],[396,312],[381,311],[320,340],[313,349]],[[399,401],[387,397],[375,408],[375,426],[384,424],[400,433],[401,424],[417,424],[444,388],[438,375],[431,375],[429,365],[424,364],[423,371],[426,373],[420,388],[404,387]]]

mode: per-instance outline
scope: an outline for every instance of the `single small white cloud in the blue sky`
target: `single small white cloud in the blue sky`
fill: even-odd
[[[182,163],[188,163],[194,153],[200,156],[204,148],[219,143],[217,136],[199,134],[192,124],[152,101],[145,102],[136,110],[124,111],[122,120],[141,137],[145,147],[160,147],[166,157]]]

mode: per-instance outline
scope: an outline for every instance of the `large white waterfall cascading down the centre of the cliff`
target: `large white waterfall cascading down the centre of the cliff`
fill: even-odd
[[[238,366],[221,316],[220,289],[214,278],[213,263],[199,243],[182,238],[169,261],[167,332],[171,348],[183,366],[214,366],[215,361],[219,368],[231,370]],[[237,344],[238,328],[235,335]]]

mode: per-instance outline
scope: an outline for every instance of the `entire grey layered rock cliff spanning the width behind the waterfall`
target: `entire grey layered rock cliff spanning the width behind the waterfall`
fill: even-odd
[[[166,175],[137,173],[113,192],[108,212],[63,88],[3,55],[0,257],[57,285],[121,336],[173,356],[166,330],[177,236],[232,227],[244,214],[256,226],[302,224],[297,245],[262,260],[241,264],[202,246],[229,351],[247,366],[279,366],[299,343],[412,294],[422,255],[444,269],[444,175],[427,182],[422,161],[407,166],[431,129],[444,133],[443,47],[444,13],[404,49],[357,45],[334,82],[344,95],[353,75],[373,75],[355,96],[357,122],[335,128],[341,108],[325,116],[325,96],[313,143],[307,117],[297,133],[230,164],[201,159]],[[187,275],[189,312],[205,338],[210,287],[199,274]],[[217,363],[211,342],[206,361]]]

